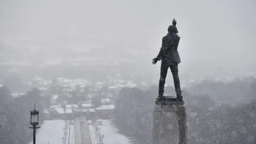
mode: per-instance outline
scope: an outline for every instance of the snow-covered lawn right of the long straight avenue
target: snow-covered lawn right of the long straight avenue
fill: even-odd
[[[98,119],[100,134],[104,135],[104,144],[131,144],[132,140],[118,133],[118,129],[112,124],[111,119]],[[102,125],[101,125],[102,123]]]

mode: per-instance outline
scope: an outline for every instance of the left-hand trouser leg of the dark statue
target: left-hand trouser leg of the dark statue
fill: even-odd
[[[168,68],[169,68],[168,63],[162,60],[161,73],[160,73],[160,79],[159,79],[158,97],[162,97],[164,94],[164,85],[165,85],[165,79],[166,79]]]

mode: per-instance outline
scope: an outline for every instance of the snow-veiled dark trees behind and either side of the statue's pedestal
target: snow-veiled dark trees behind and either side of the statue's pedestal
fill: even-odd
[[[205,81],[183,92],[188,117],[188,142],[256,143],[256,79],[221,83],[218,89],[219,83]],[[115,111],[118,127],[141,144],[150,143],[152,139],[157,91],[157,86],[151,86],[146,92],[125,88],[119,93]],[[175,93],[171,86],[167,86],[165,92]],[[234,94],[234,99],[230,99],[230,93]],[[220,103],[219,100],[227,99],[225,96],[229,97],[229,101]],[[238,96],[242,96],[239,102]]]

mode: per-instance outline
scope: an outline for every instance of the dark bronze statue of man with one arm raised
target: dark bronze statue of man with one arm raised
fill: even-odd
[[[170,67],[172,71],[173,81],[175,92],[177,94],[178,100],[183,100],[180,89],[180,79],[178,75],[178,65],[180,63],[180,56],[178,53],[178,45],[180,37],[177,35],[178,29],[176,27],[176,20],[173,19],[172,25],[168,28],[168,33],[162,39],[162,47],[156,58],[153,59],[153,65],[157,61],[162,60],[161,62],[161,77],[159,80],[159,90],[158,97],[163,97],[164,94],[164,85],[165,78],[167,75],[168,68]]]

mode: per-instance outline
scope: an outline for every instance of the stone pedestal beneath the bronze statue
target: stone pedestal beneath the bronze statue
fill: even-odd
[[[187,143],[185,101],[175,96],[157,98],[153,118],[153,144]]]

